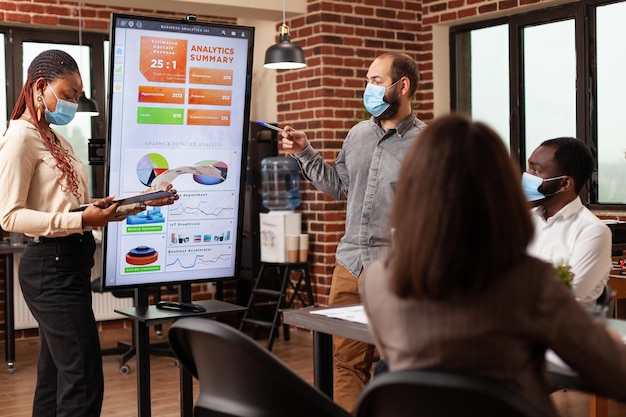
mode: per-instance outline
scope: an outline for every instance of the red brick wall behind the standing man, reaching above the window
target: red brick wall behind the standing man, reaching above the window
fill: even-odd
[[[307,68],[278,71],[278,122],[307,132],[312,146],[332,163],[357,121],[368,117],[362,94],[365,74],[379,54],[397,50],[414,57],[421,82],[417,116],[434,117],[433,26],[459,19],[514,13],[550,0],[309,0],[306,16],[288,21]],[[543,6],[543,5],[541,5]],[[310,234],[312,281],[317,303],[326,305],[345,204],[302,183],[303,231]]]

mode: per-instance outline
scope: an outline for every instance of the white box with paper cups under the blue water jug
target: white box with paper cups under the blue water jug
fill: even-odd
[[[260,213],[261,262],[287,262],[285,236],[299,235],[302,214],[293,211]]]

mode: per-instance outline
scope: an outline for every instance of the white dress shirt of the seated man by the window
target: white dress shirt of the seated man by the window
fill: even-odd
[[[611,230],[580,198],[547,220],[541,206],[531,210],[535,238],[528,253],[546,262],[570,265],[572,291],[578,300],[592,306],[602,294],[611,269]]]

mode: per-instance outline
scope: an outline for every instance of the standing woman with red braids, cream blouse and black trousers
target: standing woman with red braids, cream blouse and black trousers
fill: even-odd
[[[91,230],[119,220],[114,196],[90,203],[87,172],[50,125],[69,123],[83,83],[60,50],[28,68],[0,141],[0,227],[29,237],[19,265],[24,299],[39,323],[41,350],[33,416],[99,416],[104,390],[98,328],[91,307]],[[171,204],[172,197],[149,202]],[[121,217],[121,218],[120,218]]]

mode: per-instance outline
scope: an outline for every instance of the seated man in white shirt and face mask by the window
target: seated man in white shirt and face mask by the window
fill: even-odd
[[[611,269],[611,231],[578,196],[593,166],[593,156],[581,140],[556,138],[535,149],[522,176],[524,193],[535,206],[535,238],[528,253],[569,265],[572,290],[585,307],[595,305]]]

